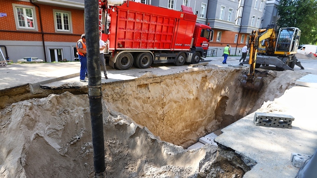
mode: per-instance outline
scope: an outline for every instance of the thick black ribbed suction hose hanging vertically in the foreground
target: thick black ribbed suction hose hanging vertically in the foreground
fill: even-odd
[[[101,66],[99,60],[99,4],[98,0],[85,0],[85,34],[88,69],[88,97],[94,151],[96,178],[104,178],[105,141],[101,89]]]

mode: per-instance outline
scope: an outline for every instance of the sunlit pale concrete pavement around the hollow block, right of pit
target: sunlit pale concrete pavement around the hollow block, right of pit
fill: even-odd
[[[292,129],[258,127],[255,112],[222,129],[215,141],[248,156],[258,164],[244,178],[294,178],[292,152],[312,155],[317,149],[317,89],[296,86],[256,112],[287,114],[295,118]]]

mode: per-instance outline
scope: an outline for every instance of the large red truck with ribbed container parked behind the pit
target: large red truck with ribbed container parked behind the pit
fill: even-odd
[[[109,65],[127,70],[133,64],[148,68],[152,63],[198,63],[206,57],[211,27],[196,23],[191,7],[181,11],[123,1],[121,5],[100,3],[101,38],[107,42]],[[100,15],[103,16],[103,15]]]

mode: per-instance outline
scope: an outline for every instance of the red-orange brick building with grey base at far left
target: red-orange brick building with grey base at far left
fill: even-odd
[[[38,57],[46,62],[76,59],[84,33],[84,0],[0,0],[0,47],[17,62]]]

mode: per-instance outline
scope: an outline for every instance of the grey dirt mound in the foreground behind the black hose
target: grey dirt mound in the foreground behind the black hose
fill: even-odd
[[[214,161],[215,146],[184,150],[103,108],[107,178],[195,178]],[[65,92],[14,103],[1,111],[0,126],[1,178],[94,176],[87,95]]]

